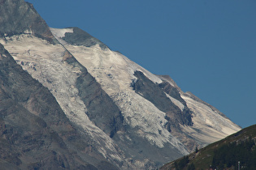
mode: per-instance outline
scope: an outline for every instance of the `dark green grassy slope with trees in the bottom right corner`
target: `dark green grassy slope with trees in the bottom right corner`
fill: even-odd
[[[256,125],[164,165],[164,169],[255,169]]]

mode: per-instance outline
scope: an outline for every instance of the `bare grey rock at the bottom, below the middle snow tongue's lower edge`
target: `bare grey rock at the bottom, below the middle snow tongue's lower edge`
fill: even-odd
[[[124,154],[128,158],[132,158],[130,159],[132,164],[141,161],[141,164],[145,164],[143,169],[154,169],[162,166],[170,159],[176,159],[182,156],[180,151],[171,146],[170,143],[164,143],[164,147],[159,148],[153,143],[148,142],[146,138],[138,136],[137,130],[137,128],[128,128],[124,134],[115,135],[113,138],[119,147],[122,148]],[[124,142],[126,136],[129,136],[131,140]]]

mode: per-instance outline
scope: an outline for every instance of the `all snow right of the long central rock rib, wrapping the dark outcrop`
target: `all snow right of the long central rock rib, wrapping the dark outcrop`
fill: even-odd
[[[51,31],[59,41],[63,42],[63,35],[59,36],[59,32],[63,32],[63,29],[51,28]],[[110,49],[102,49],[99,45],[85,47],[84,45],[71,45],[66,42],[64,44],[119,106],[128,125],[140,127],[143,131],[141,135],[152,140],[158,147],[163,147],[164,142],[168,141],[166,138],[170,133],[166,132],[164,128],[167,120],[164,119],[165,113],[132,90],[131,83],[137,80],[137,77],[134,76],[136,70],[140,70],[154,83],[167,81],[172,87],[180,91],[181,97],[193,112],[193,126],[180,125],[180,128],[189,137],[194,138],[199,145],[215,142],[228,134],[241,130],[238,125],[233,124],[227,117],[223,117],[207,104],[197,102],[189,98],[188,95],[184,95],[184,92],[176,86],[173,80],[151,74],[121,53],[113,52]],[[184,104],[180,103],[179,100],[169,95],[167,97],[181,110],[184,109]],[[149,134],[146,134],[149,127]],[[158,131],[163,133],[160,135]],[[152,132],[154,135],[152,135]]]

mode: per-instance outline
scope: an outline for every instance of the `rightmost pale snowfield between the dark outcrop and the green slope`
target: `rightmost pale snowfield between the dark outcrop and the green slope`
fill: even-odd
[[[215,113],[215,111],[206,104],[202,104],[188,96],[181,95],[181,97],[193,111],[193,126],[183,127],[183,130],[193,136],[193,138],[196,138],[198,142],[216,142],[241,130],[238,125],[234,124],[228,118]],[[198,133],[198,130],[200,133]]]

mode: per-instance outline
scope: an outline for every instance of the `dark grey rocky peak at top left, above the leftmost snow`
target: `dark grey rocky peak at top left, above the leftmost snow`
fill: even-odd
[[[51,43],[57,43],[46,21],[33,5],[23,0],[0,0],[0,37],[33,32]]]

